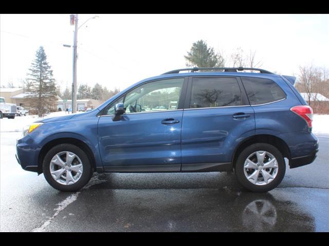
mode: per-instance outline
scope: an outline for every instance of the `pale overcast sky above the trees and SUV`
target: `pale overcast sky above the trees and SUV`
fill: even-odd
[[[79,14],[78,86],[121,90],[137,81],[186,67],[192,43],[215,51],[256,51],[263,69],[293,75],[299,65],[329,68],[328,14]],[[72,83],[74,27],[69,14],[1,14],[0,83],[14,84],[44,46],[62,90]]]

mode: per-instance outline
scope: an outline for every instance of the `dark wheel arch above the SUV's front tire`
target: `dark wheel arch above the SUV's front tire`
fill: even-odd
[[[62,137],[62,138],[56,138],[53,140],[50,140],[49,142],[47,142],[47,144],[45,144],[41,150],[40,150],[40,154],[38,156],[38,174],[43,173],[42,170],[42,162],[43,159],[45,158],[47,152],[60,144],[71,144],[71,145],[75,145],[79,148],[81,148],[82,150],[85,151],[85,153],[87,154],[90,163],[92,163],[92,168],[93,171],[96,170],[96,158],[95,155],[93,154],[92,150],[90,149],[90,147],[83,141],[77,139],[77,138],[72,138],[72,137]]]

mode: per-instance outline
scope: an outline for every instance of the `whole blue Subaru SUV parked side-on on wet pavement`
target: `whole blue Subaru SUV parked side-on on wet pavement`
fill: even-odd
[[[318,151],[295,79],[242,67],[170,71],[92,111],[34,122],[17,139],[16,159],[61,191],[81,189],[94,172],[234,170],[243,187],[266,192],[286,160],[300,167]]]

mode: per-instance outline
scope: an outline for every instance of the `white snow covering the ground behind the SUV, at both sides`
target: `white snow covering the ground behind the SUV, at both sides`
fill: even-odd
[[[82,112],[78,112],[82,113]],[[53,112],[43,118],[67,115],[65,111]],[[38,115],[16,116],[14,119],[0,119],[0,132],[22,132],[23,127],[40,119]],[[329,115],[315,114],[313,116],[313,133],[329,134]]]

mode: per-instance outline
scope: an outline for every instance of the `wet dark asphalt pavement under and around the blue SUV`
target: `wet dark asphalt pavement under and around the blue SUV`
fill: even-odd
[[[2,232],[329,231],[329,135],[314,163],[286,170],[268,193],[242,189],[233,174],[101,174],[77,193],[51,188],[17,164],[1,133]]]

